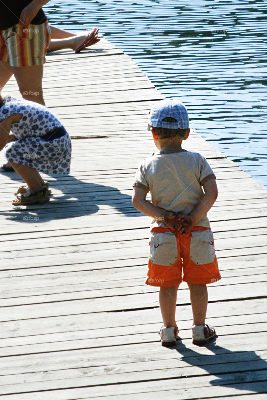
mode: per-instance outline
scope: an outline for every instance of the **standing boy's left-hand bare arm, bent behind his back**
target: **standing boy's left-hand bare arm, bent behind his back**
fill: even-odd
[[[168,228],[173,229],[175,226],[179,226],[180,228],[181,224],[178,216],[173,212],[164,210],[164,208],[154,206],[154,204],[146,200],[146,195],[146,190],[136,186],[134,187],[131,202],[138,211],[149,217],[158,218],[158,220],[161,220]]]

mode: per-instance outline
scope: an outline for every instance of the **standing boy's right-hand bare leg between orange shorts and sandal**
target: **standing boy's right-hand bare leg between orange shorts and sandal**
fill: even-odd
[[[193,312],[193,325],[204,325],[208,306],[207,287],[206,285],[188,283],[188,288]]]

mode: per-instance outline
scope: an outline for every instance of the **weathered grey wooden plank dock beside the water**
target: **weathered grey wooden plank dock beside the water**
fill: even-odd
[[[49,178],[49,204],[15,208],[21,180],[0,173],[0,400],[266,399],[267,190],[190,135],[219,189],[209,218],[223,279],[207,314],[218,338],[192,344],[183,283],[182,340],[164,348],[158,288],[144,284],[150,218],[131,205],[155,150],[147,114],[164,96],[104,38],[47,56],[43,86],[73,138],[71,174]],[[6,91],[20,96],[14,79]]]

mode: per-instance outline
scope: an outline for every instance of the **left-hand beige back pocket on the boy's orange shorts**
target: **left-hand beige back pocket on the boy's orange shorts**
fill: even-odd
[[[175,232],[150,232],[150,260],[158,265],[172,265],[178,257]]]

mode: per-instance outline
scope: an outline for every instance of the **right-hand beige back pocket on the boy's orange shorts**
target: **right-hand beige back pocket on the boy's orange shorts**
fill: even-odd
[[[214,261],[215,250],[213,244],[213,233],[208,230],[197,230],[191,232],[190,259],[195,264],[209,264]]]

